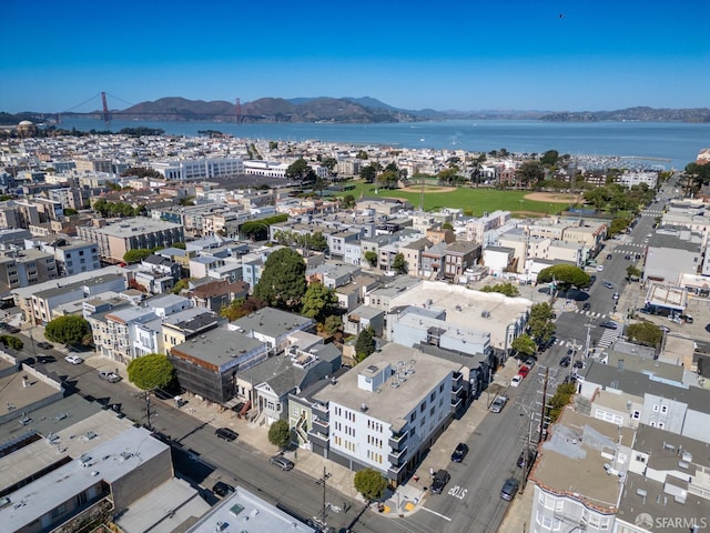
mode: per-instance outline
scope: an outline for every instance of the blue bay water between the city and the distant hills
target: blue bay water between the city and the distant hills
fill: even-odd
[[[384,124],[263,123],[182,121],[113,121],[65,118],[60,125],[81,131],[123,128],[160,128],[169,134],[197,135],[215,130],[240,139],[323,141],[338,144],[393,148],[465,150],[514,153],[632,157],[666,169],[683,169],[698,152],[710,148],[710,123],[683,122],[544,122],[537,120],[450,120]]]

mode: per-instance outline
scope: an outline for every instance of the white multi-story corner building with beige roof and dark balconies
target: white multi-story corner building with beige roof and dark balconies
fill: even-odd
[[[314,451],[353,470],[369,466],[392,485],[408,477],[446,429],[463,366],[389,343],[314,395]]]

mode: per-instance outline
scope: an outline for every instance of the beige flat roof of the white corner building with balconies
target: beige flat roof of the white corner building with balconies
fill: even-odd
[[[357,385],[359,374],[372,375],[372,369],[379,371],[386,365],[396,370],[400,361],[410,363],[413,372],[406,375],[407,380],[400,382],[399,386],[390,386],[392,378],[379,386],[379,392],[369,392]],[[336,384],[323,389],[314,398],[322,403],[334,402],[354,411],[359,411],[365,404],[368,416],[398,428],[406,422],[403,418],[418,405],[423,395],[428,394],[434,384],[452,372],[460,371],[462,368],[460,363],[427,355],[392,342],[384,345],[381,352],[371,354],[343,374]]]

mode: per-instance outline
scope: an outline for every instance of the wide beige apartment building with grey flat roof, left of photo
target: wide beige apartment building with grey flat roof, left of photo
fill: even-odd
[[[129,250],[168,248],[185,240],[182,225],[162,220],[136,217],[109,224],[105,220],[94,222],[77,228],[77,234],[83,241],[97,243],[100,258],[112,263],[122,262]]]

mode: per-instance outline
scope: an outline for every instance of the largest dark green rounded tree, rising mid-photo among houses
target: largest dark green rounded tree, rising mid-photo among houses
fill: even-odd
[[[276,250],[264,263],[254,296],[280,309],[297,309],[306,293],[305,274],[306,265],[298,252],[290,248]]]

